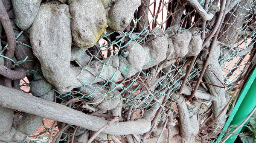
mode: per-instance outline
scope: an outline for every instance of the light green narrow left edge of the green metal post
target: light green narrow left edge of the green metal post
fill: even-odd
[[[230,126],[230,123],[233,121],[233,118],[234,118],[234,116],[236,115],[236,112],[238,111],[238,109],[239,109],[239,107],[240,107],[242,101],[244,100],[245,95],[246,95],[246,94],[248,93],[248,91],[250,90],[250,87],[252,87],[253,81],[256,82],[255,78],[256,78],[256,68],[254,68],[253,73],[250,75],[250,77],[249,77],[248,81],[246,82],[246,84],[245,84],[243,90],[241,91],[241,93],[240,93],[240,95],[239,95],[239,99],[238,99],[238,101],[236,102],[236,105],[235,105],[235,107],[234,107],[234,109],[233,109],[233,111],[232,111],[230,117],[228,118],[228,120],[227,120],[227,122],[226,122],[226,124],[224,125],[224,127],[223,127],[222,130],[227,131],[227,128]],[[252,87],[252,88],[255,89],[255,88],[256,88],[255,85],[254,85],[254,87]],[[255,101],[250,101],[250,102],[255,102]],[[252,109],[253,109],[253,107],[252,107]],[[251,111],[251,110],[250,110],[250,111]],[[250,112],[249,112],[249,113],[250,113]],[[248,114],[247,114],[247,115],[248,115]],[[224,133],[222,132],[222,134],[219,135],[218,140],[221,140],[221,138],[223,137],[223,135],[224,135]],[[230,143],[231,143],[231,142],[230,142]]]

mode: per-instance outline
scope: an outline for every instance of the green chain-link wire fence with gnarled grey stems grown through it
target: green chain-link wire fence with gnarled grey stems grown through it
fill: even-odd
[[[118,1],[112,0],[108,6]],[[102,133],[96,142],[160,143],[179,140],[180,136],[209,142],[220,132],[207,128],[221,129],[227,111],[232,111],[232,106],[224,109],[225,105],[233,94],[235,104],[243,77],[247,76],[245,71],[254,66],[255,1],[196,2],[200,5],[194,5],[194,0],[142,0],[125,30],[107,28],[93,47],[72,47],[71,60],[80,54],[70,64],[76,70],[79,86],[70,92],[59,92],[49,84],[36,59],[33,70],[28,70],[29,83],[25,81],[20,88],[30,86],[35,96],[43,95],[44,99],[109,121],[119,117],[120,122],[141,118],[150,122],[150,130],[139,135]],[[124,11],[129,6],[124,6]],[[207,17],[196,7],[208,11],[209,17],[210,13],[215,16],[205,20]],[[17,45],[31,48],[18,39]],[[13,67],[29,61],[13,61]],[[37,90],[39,86],[43,92]],[[25,115],[20,124],[35,118]],[[79,142],[95,133],[57,121],[51,127],[42,126],[44,129],[27,135],[26,140],[73,142],[75,138]]]

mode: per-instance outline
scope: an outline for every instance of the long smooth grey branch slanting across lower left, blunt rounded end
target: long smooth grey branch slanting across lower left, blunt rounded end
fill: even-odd
[[[102,118],[86,115],[64,105],[46,101],[15,89],[0,86],[0,91],[2,91],[0,93],[0,106],[2,107],[40,115],[44,118],[81,126],[92,131],[98,131],[108,123]],[[150,125],[151,123],[144,119],[113,123],[103,133],[110,135],[143,134],[149,131]]]

